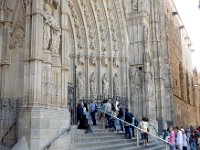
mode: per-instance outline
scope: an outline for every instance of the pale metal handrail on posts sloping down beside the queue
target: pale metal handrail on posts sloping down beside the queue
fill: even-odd
[[[128,125],[133,126],[134,128],[136,128],[136,129],[137,129],[137,146],[139,146],[138,130],[140,130],[140,131],[143,132],[143,130],[142,130],[141,128],[139,128],[139,127],[137,127],[137,126],[135,126],[135,125],[133,125],[133,124],[131,124],[131,123],[128,123],[128,122],[126,122],[126,121],[124,121],[124,120],[122,120],[122,119],[119,119],[119,118],[115,117],[114,115],[109,114],[109,113],[107,113],[106,111],[103,111],[103,110],[101,110],[101,109],[98,109],[98,111],[101,111],[101,112],[103,112],[103,113],[105,113],[105,114],[107,114],[107,115],[110,115],[110,116],[112,116],[113,118],[115,118],[115,119],[117,119],[117,120],[119,120],[119,121],[122,121],[123,123],[126,123],[126,124],[128,124]],[[169,142],[163,140],[162,138],[160,138],[160,137],[158,137],[158,136],[156,136],[156,135],[154,135],[154,134],[152,134],[152,133],[150,133],[150,132],[147,132],[147,134],[148,134],[148,135],[151,135],[151,136],[153,136],[153,137],[155,137],[155,138],[157,138],[158,140],[161,140],[162,142],[164,142],[164,143],[166,144],[166,149],[167,149],[167,145],[171,145]]]

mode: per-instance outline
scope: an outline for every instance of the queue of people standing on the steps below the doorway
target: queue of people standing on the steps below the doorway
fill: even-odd
[[[89,109],[88,109],[89,106]],[[77,121],[78,129],[85,129],[86,133],[93,133],[92,126],[88,122],[89,115],[91,116],[92,125],[96,126],[96,113],[97,113],[97,104],[93,100],[90,104],[79,103],[77,106]],[[101,103],[101,110],[99,112],[99,121],[102,122],[104,128],[112,129],[114,133],[125,133],[125,137],[132,139],[135,137],[135,128],[134,126],[139,126],[142,129],[141,137],[144,140],[144,145],[148,145],[148,118],[144,117],[141,122],[136,120],[128,108],[123,109],[121,104],[117,106],[111,103],[111,100],[104,100]],[[125,111],[124,111],[125,110]],[[118,119],[117,119],[118,118]],[[117,129],[117,120],[119,120],[120,128]],[[123,120],[127,123],[124,123]],[[132,125],[134,126],[132,126]]]

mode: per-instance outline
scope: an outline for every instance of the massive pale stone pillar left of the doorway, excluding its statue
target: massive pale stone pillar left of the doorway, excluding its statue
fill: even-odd
[[[60,47],[62,68],[55,65],[52,71],[51,59],[43,57],[43,7],[46,0],[34,0],[26,7],[26,48],[25,48],[25,78],[24,101],[19,113],[19,137],[25,137],[30,150],[43,149],[53,138],[69,127],[70,114],[67,109],[67,63],[68,34],[66,1],[62,0],[62,46]],[[50,1],[49,1],[50,2]],[[57,1],[60,2],[60,1]],[[32,12],[30,13],[30,11]],[[31,17],[29,16],[29,13]],[[32,18],[32,20],[30,20]],[[66,20],[65,20],[66,19]],[[66,27],[65,27],[66,25]],[[31,31],[31,32],[29,32]],[[31,41],[30,41],[31,39]],[[29,57],[30,55],[30,57]],[[58,62],[58,61],[57,61]],[[46,68],[47,67],[47,68]],[[47,69],[47,70],[45,70]],[[61,70],[62,69],[62,70]],[[53,84],[52,92],[47,92],[48,101],[42,97],[42,77],[48,78],[47,84]],[[54,80],[52,81],[52,77]],[[62,83],[61,83],[62,81]],[[26,83],[28,82],[28,83]],[[48,90],[48,89],[47,89]],[[52,97],[52,93],[54,93]],[[47,105],[48,104],[48,105]],[[68,148],[69,135],[64,134],[51,148]]]

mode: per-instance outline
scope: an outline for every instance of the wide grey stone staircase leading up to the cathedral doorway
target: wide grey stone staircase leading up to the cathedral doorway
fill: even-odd
[[[137,139],[127,139],[124,133],[113,133],[110,129],[102,129],[100,125],[92,126],[93,134],[85,134],[85,130],[73,126],[71,135],[73,150],[165,150],[165,145],[154,138],[149,138],[149,145],[143,146],[140,139],[137,147]]]

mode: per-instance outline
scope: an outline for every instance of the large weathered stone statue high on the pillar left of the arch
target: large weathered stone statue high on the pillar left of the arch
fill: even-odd
[[[55,17],[59,4],[58,0],[46,0],[44,4],[43,49],[51,50],[52,54],[58,54],[60,46],[61,29]],[[55,5],[55,9],[51,5]]]

